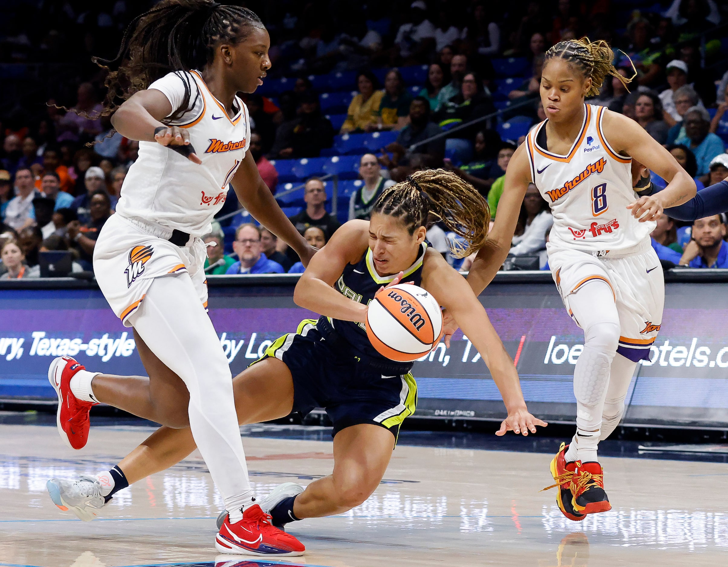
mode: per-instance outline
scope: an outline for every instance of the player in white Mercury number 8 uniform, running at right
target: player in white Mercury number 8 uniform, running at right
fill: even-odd
[[[636,364],[649,356],[662,321],[664,281],[649,234],[662,209],[695,196],[695,182],[639,124],[585,104],[605,76],[628,82],[612,59],[604,41],[586,38],[548,50],[540,88],[547,120],[511,158],[494,228],[468,276],[478,294],[494,278],[534,182],[553,212],[547,244],[553,278],[585,336],[574,369],[577,433],[551,465],[558,506],[571,520],[611,509],[597,446],[620,422]],[[633,158],[667,180],[667,188],[638,196]]]

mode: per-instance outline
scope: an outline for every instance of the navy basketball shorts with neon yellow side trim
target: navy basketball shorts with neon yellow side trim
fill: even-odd
[[[316,322],[301,321],[296,333],[277,339],[253,364],[266,358],[283,361],[293,377],[293,411],[305,416],[324,408],[333,422],[332,437],[346,427],[370,423],[391,431],[396,440],[400,425],[417,405],[412,374],[385,376],[352,355],[335,351]]]

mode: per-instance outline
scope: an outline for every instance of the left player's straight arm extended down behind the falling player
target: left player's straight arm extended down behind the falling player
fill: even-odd
[[[248,152],[245,154],[245,158],[242,158],[242,163],[232,178],[232,188],[237,195],[237,200],[245,207],[245,210],[252,214],[261,225],[293,248],[301,257],[304,266],[308,266],[316,249],[306,242],[288,217],[283,214],[268,185],[261,179],[252,153]]]

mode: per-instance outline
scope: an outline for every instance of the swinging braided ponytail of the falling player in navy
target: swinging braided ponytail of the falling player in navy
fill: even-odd
[[[385,189],[372,209],[374,213],[402,220],[411,235],[419,227],[427,227],[431,217],[443,221],[449,230],[464,238],[464,244],[450,245],[458,258],[478,252],[486,244],[491,220],[483,196],[446,169],[414,172],[403,182]]]

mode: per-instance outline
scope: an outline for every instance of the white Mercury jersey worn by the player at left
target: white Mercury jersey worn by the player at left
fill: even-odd
[[[176,110],[184,97],[181,76],[189,80],[189,104],[194,103],[194,108],[170,124],[187,129],[202,165],[157,142],[139,142],[139,157],[124,179],[116,213],[203,236],[210,231],[210,222],[222,208],[229,183],[248,151],[250,118],[238,97],[234,101],[237,113],[229,118],[198,71],[169,73],[149,88],[163,92]]]

